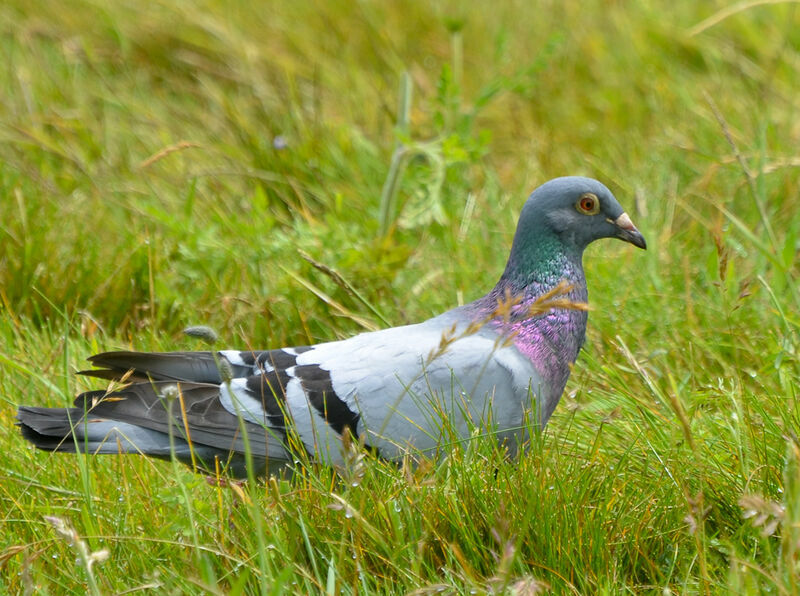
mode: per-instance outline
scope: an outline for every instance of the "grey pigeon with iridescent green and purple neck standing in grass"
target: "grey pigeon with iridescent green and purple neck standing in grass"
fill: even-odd
[[[584,343],[584,249],[645,239],[597,180],[563,177],[525,202],[489,293],[424,322],[311,346],[89,358],[115,381],[71,408],[20,406],[46,451],[176,458],[231,476],[345,466],[355,445],[400,462],[491,433],[510,452],[543,428]]]

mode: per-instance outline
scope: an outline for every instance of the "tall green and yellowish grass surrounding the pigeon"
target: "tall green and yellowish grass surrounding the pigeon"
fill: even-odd
[[[800,591],[796,3],[10,0],[0,23],[9,593]],[[569,173],[649,249],[587,251],[587,344],[517,461],[476,440],[214,487],[14,429],[95,351],[471,300]]]

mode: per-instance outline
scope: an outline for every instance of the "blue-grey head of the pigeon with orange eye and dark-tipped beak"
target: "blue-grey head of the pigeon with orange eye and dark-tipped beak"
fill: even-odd
[[[528,198],[519,231],[550,232],[565,245],[583,251],[599,238],[619,238],[646,248],[644,236],[602,183],[567,176],[545,182]]]

